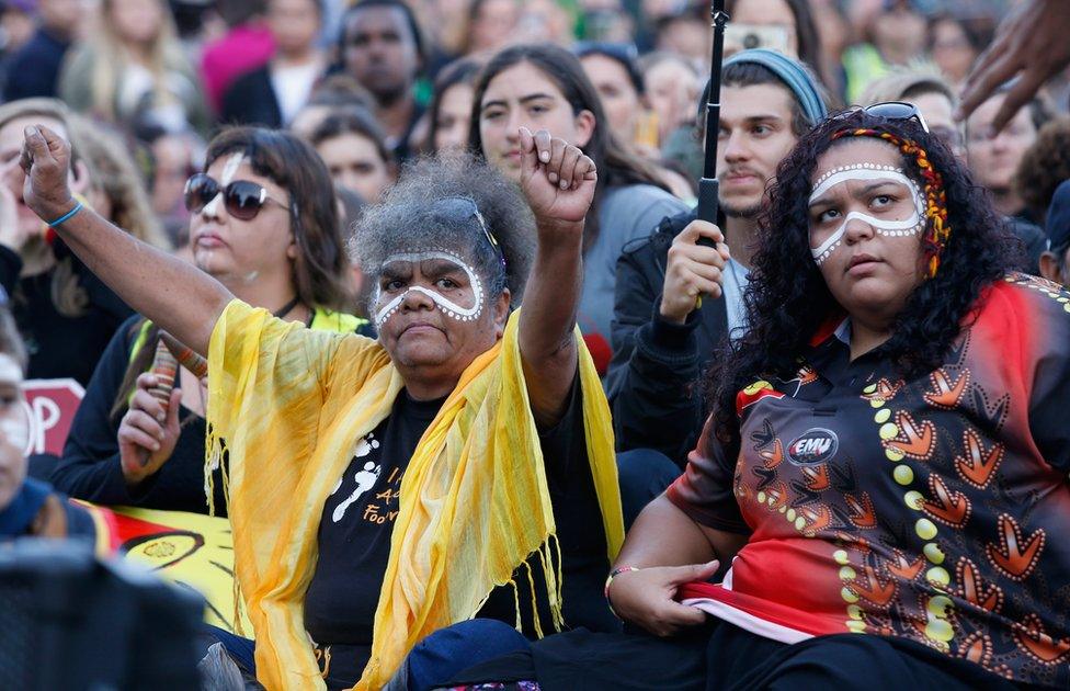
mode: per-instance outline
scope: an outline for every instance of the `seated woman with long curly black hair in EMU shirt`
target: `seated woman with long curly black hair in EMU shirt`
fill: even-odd
[[[804,135],[714,412],[606,585],[654,636],[564,634],[466,681],[1066,689],[1070,292],[1013,246],[909,105]]]

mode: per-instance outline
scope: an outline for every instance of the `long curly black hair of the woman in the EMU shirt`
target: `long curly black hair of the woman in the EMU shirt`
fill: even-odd
[[[836,133],[856,128],[914,140],[943,175],[947,194],[952,233],[940,271],[909,295],[892,337],[881,347],[899,375],[913,378],[940,366],[961,326],[969,322],[981,291],[1013,270],[1022,253],[1021,241],[992,208],[984,190],[944,144],[917,123],[862,111],[827,120],[802,136],[777,168],[759,219],[758,249],[743,296],[749,330],[706,375],[706,395],[722,441],[738,443],[737,392],[762,377],[793,378],[798,358],[818,327],[842,314],[810,253],[807,206],[818,160],[830,148],[855,139],[835,139]],[[923,186],[913,160],[904,158],[902,167]]]

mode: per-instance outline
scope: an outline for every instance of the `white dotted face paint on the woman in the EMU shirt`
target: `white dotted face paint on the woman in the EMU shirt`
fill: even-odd
[[[813,261],[819,267],[823,264],[826,260],[832,256],[832,252],[834,252],[836,248],[843,243],[843,236],[847,231],[847,224],[850,224],[852,220],[861,220],[869,224],[869,226],[872,226],[873,229],[878,234],[890,237],[909,237],[918,235],[925,227],[925,201],[922,197],[921,190],[918,188],[918,183],[908,178],[903,173],[902,169],[891,166],[858,163],[855,166],[833,168],[821,175],[817,183],[815,183],[813,192],[810,193],[809,204],[812,206],[836,185],[851,181],[892,182],[897,185],[901,185],[912,197],[914,203],[913,209],[911,215],[902,220],[876,218],[862,212],[851,212],[843,217],[843,220],[839,226],[836,226],[836,229],[833,230],[832,234],[829,235],[817,247],[812,247],[815,240],[813,231],[811,230],[810,252],[813,256]]]

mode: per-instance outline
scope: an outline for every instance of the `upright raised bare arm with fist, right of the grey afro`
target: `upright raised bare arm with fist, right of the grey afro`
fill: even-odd
[[[583,219],[597,171],[580,149],[546,131],[522,128],[521,149],[521,186],[535,213],[538,247],[524,293],[520,352],[535,420],[553,424],[576,378]]]

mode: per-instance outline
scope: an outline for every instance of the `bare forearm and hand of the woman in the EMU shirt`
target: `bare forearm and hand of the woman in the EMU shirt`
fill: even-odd
[[[747,543],[745,535],[699,525],[665,495],[651,501],[628,531],[608,596],[621,619],[659,636],[706,621],[698,609],[673,598],[683,584],[706,580]]]

